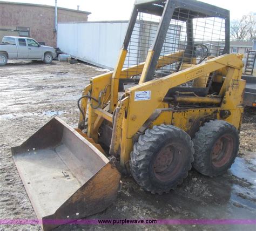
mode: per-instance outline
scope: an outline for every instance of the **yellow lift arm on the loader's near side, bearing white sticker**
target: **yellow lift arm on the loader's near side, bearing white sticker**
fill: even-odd
[[[127,117],[130,120],[127,137],[133,137],[133,135],[145,123],[147,118],[150,117],[154,110],[159,108],[160,104],[163,104],[163,99],[171,87],[179,86],[180,84],[186,83],[187,81],[203,76],[206,73],[210,73],[219,70],[224,66],[228,66],[227,63],[229,63],[229,60],[231,59],[239,58],[236,55],[223,55],[218,58],[208,60],[205,64],[199,64],[197,66],[190,67],[186,70],[179,71],[177,73],[171,74],[170,76],[166,76],[157,80],[147,81],[146,83],[131,87],[130,89],[126,90],[126,93],[130,94],[130,105],[127,114]],[[218,62],[215,62],[215,60]],[[241,63],[239,63],[237,68],[240,68],[240,66]],[[137,91],[151,91],[151,99],[149,102],[134,101],[134,95]]]

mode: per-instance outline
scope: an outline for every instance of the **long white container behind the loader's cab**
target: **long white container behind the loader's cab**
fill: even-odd
[[[85,23],[59,23],[58,47],[65,53],[84,62],[113,70],[123,45],[128,21],[101,21]],[[144,62],[156,35],[158,22],[140,20],[134,26],[129,45],[130,65]],[[179,44],[180,26],[170,25],[165,42]],[[147,41],[147,42],[146,42]],[[175,42],[174,42],[175,41]],[[143,47],[143,49],[138,49]],[[172,47],[174,52],[177,47]]]

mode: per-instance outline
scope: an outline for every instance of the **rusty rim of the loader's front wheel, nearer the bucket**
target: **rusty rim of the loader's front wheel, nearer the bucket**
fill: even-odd
[[[171,181],[180,172],[184,151],[181,144],[168,144],[161,148],[153,163],[154,175],[158,180]]]

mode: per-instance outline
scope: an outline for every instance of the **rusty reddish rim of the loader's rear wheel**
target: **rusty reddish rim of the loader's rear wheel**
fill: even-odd
[[[234,141],[231,135],[221,136],[213,145],[211,158],[213,166],[219,168],[227,164],[234,151]]]

